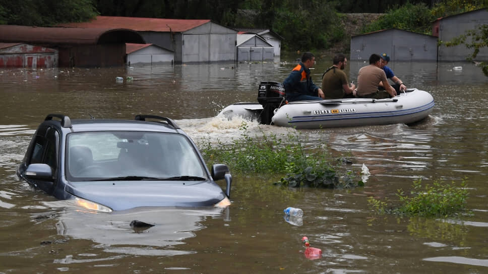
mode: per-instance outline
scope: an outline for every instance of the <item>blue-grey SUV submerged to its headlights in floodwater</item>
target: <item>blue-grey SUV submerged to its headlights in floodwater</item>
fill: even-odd
[[[232,176],[207,169],[195,143],[166,117],[74,119],[49,114],[37,128],[17,175],[89,210],[226,207]],[[214,180],[225,179],[225,192]]]

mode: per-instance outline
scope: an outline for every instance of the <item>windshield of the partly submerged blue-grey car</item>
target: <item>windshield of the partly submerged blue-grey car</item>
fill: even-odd
[[[68,135],[69,180],[207,180],[202,161],[184,135],[104,131]]]

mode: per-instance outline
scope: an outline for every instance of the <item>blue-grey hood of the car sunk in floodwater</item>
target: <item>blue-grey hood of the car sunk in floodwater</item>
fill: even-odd
[[[206,207],[226,197],[215,182],[209,181],[71,182],[66,191],[115,211],[138,207]]]

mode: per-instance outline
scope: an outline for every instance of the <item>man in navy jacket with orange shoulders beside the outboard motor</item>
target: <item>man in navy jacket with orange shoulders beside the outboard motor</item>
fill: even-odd
[[[288,102],[300,100],[322,100],[324,92],[317,87],[310,76],[310,68],[315,64],[312,52],[305,52],[301,56],[301,62],[297,64],[290,75],[283,81],[286,100]]]

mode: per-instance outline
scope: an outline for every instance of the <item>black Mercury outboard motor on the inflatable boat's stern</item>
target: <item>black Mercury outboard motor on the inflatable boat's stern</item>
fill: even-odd
[[[271,124],[274,110],[285,102],[285,87],[280,82],[264,81],[259,83],[258,102],[263,106],[259,117],[262,124]]]

